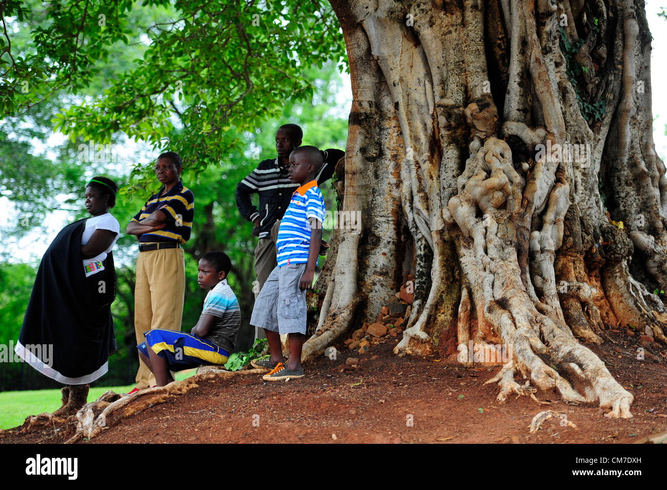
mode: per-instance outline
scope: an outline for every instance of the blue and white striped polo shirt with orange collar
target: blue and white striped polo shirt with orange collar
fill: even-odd
[[[275,246],[278,249],[278,267],[287,264],[303,264],[308,261],[310,247],[310,223],[315,218],[324,222],[326,209],[317,181],[310,181],[294,191],[285,215],[280,221]]]

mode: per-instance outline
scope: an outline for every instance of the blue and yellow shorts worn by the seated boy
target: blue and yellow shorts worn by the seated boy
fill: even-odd
[[[225,349],[193,333],[153,329],[144,335],[146,341],[137,345],[137,349],[147,357],[147,346],[153,349],[167,361],[169,371],[183,371],[202,364],[224,364],[229,359]]]

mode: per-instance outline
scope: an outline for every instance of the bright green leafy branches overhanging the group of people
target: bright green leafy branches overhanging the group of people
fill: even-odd
[[[336,16],[320,1],[144,1],[162,9],[159,21],[132,17],[138,4],[131,1],[43,5],[31,13],[44,18],[33,25],[25,55],[7,48],[0,57],[7,67],[0,110],[15,115],[53,91],[89,87],[113,47],[133,45],[138,37],[143,55],[122,73],[112,72],[115,79],[101,97],[59,113],[57,128],[96,143],[122,131],[155,149],[176,148],[198,169],[243,147],[239,135],[277,117],[286,101],[311,98],[311,67],[345,59]],[[3,15],[20,22],[27,11],[8,2]],[[5,24],[5,46],[10,30]],[[138,166],[135,175],[142,170]]]

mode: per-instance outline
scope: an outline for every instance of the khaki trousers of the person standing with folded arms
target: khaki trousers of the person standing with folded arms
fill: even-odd
[[[134,330],[137,345],[151,329],[181,331],[185,294],[185,256],[183,249],[139,252],[137,283],[134,288]],[[155,377],[139,359],[137,388],[155,386]]]

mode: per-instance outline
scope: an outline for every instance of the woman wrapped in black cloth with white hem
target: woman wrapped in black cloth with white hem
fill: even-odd
[[[67,225],[49,245],[23,318],[16,353],[65,385],[63,406],[54,415],[73,415],[85,405],[89,383],[107,372],[107,358],[116,350],[111,249],[120,227],[109,209],[117,191],[106,177],[86,185],[91,217]]]

